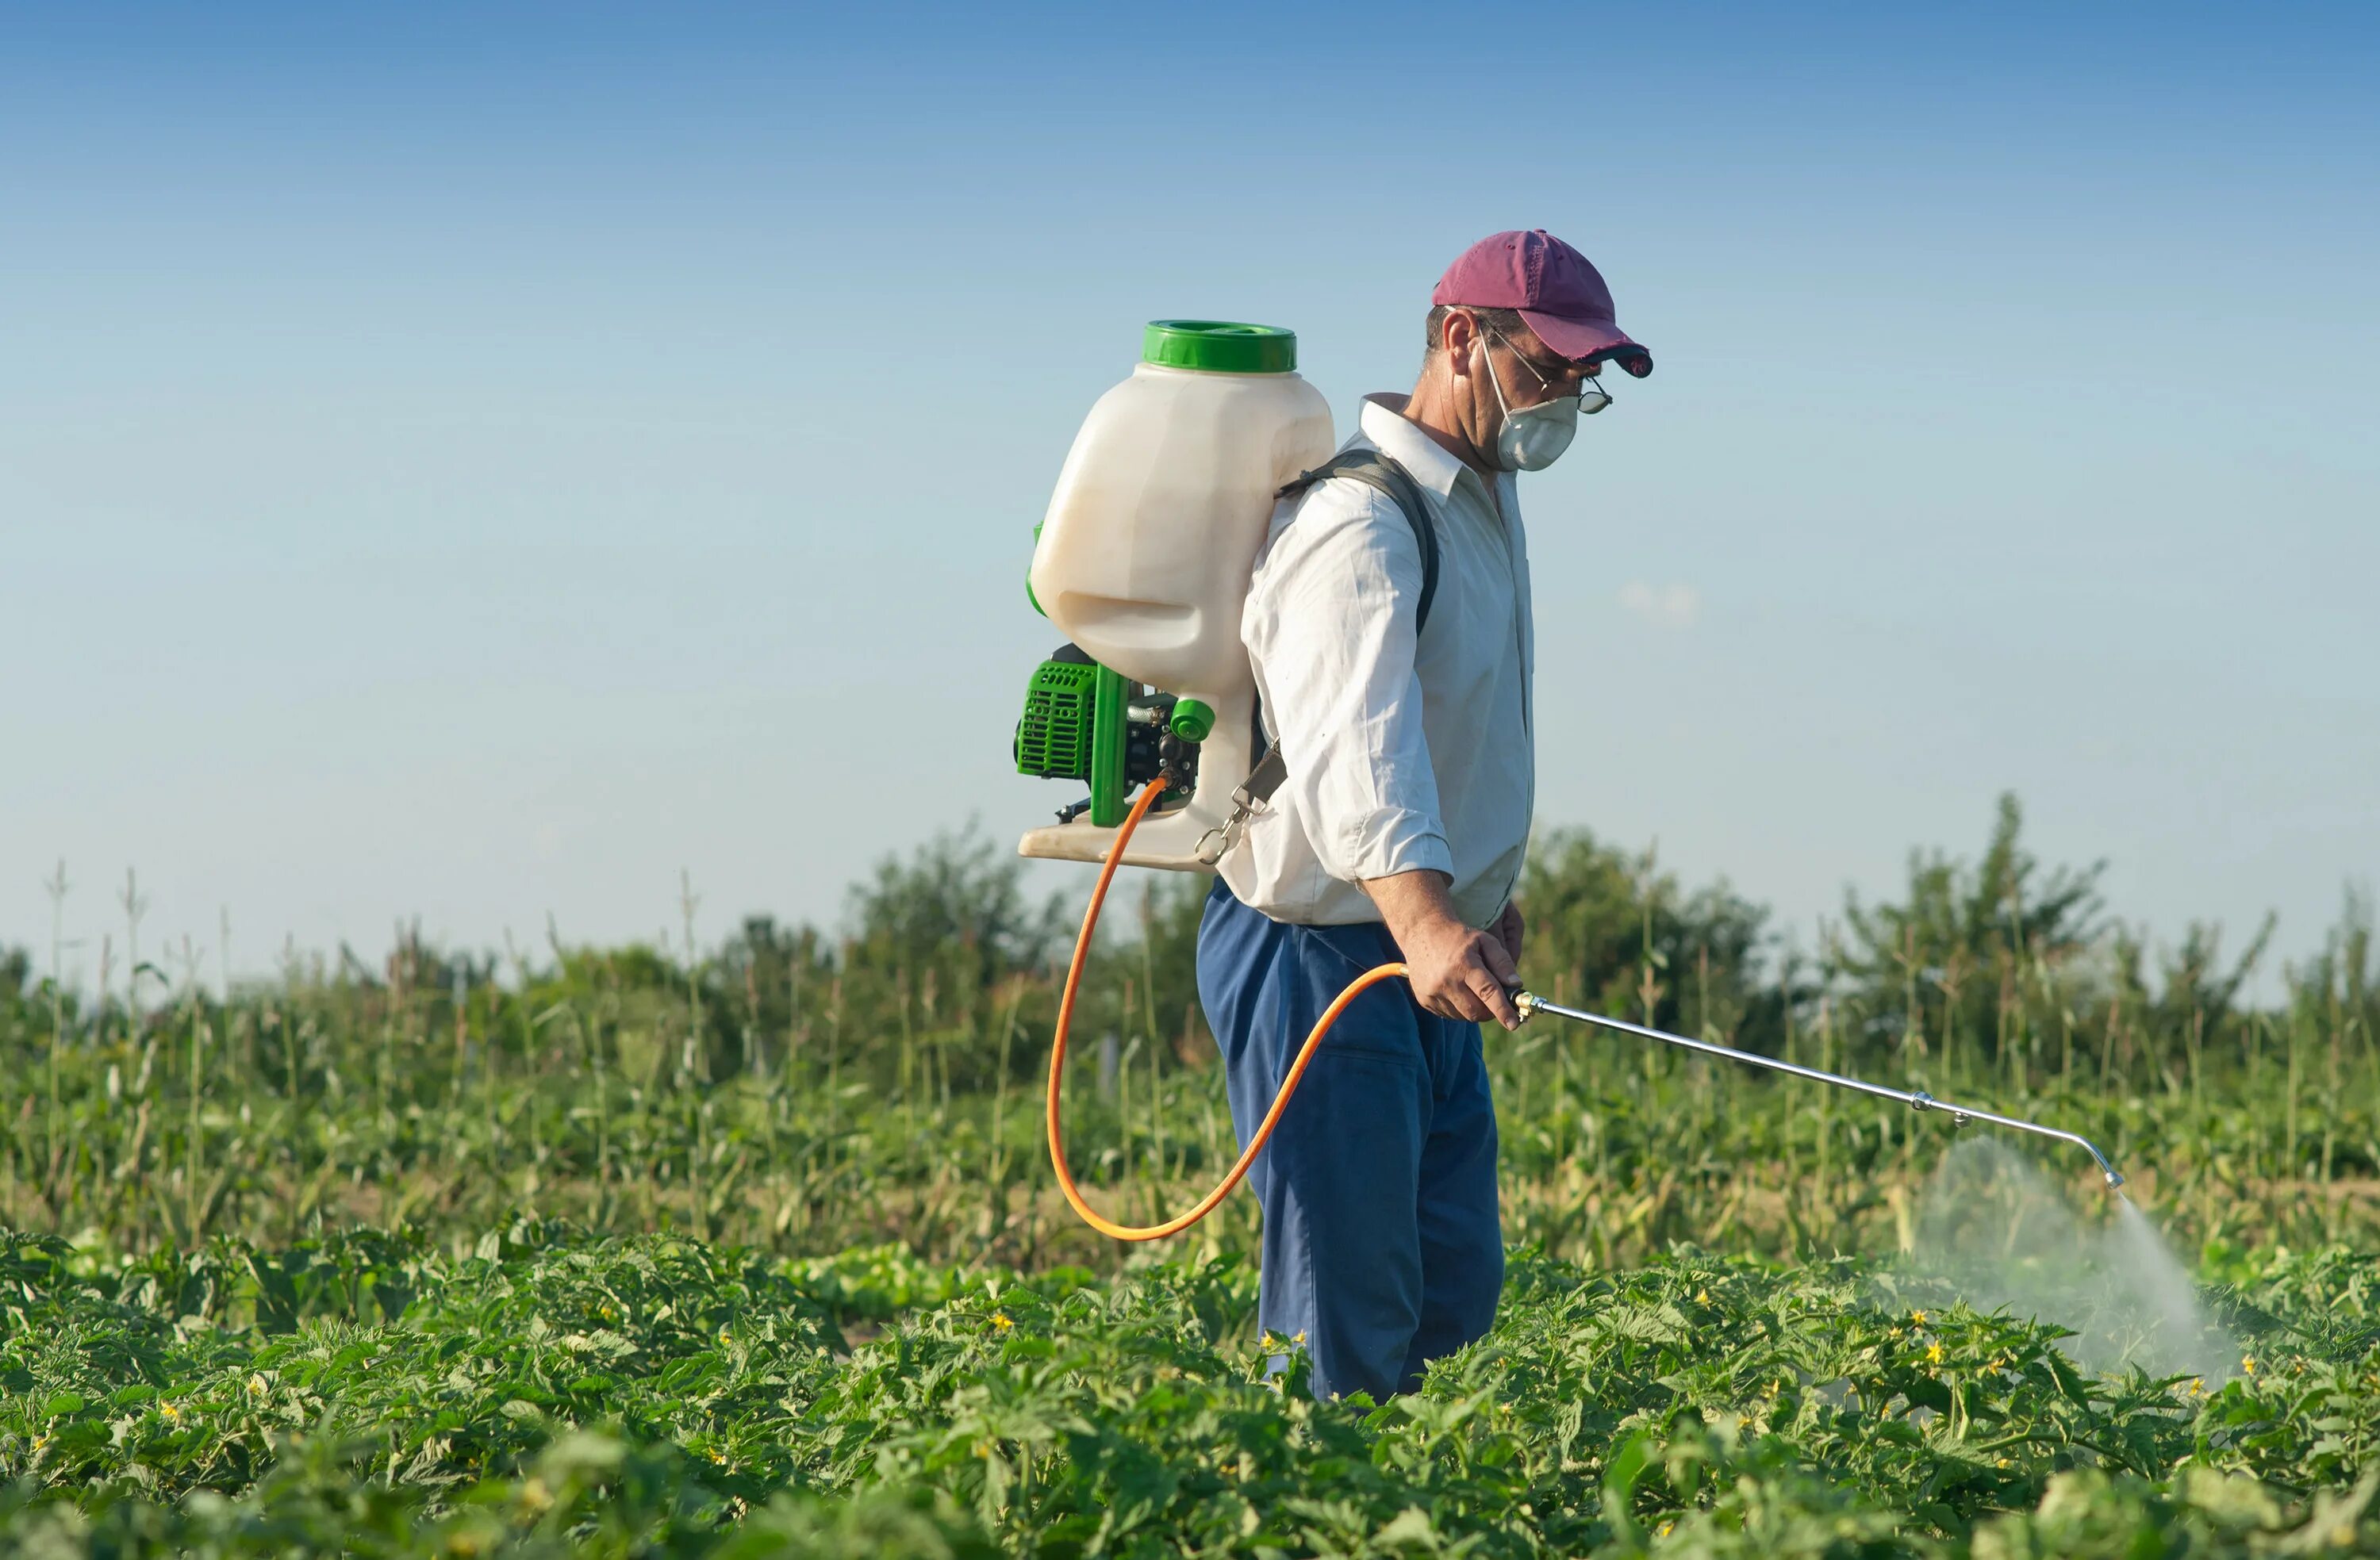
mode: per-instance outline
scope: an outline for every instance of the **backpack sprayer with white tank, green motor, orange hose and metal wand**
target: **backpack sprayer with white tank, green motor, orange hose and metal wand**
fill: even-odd
[[[1338,994],[1314,1023],[1230,1172],[1192,1208],[1161,1225],[1116,1225],[1083,1201],[1066,1170],[1059,1082],[1073,999],[1116,868],[1216,870],[1278,782],[1280,761],[1259,763],[1254,751],[1257,687],[1240,647],[1240,606],[1276,497],[1311,485],[1330,464],[1333,473],[1390,490],[1421,533],[1426,554],[1435,554],[1430,516],[1411,514],[1411,504],[1392,490],[1395,483],[1383,483],[1368,468],[1349,468],[1352,461],[1333,461],[1330,407],[1295,369],[1297,335],[1290,331],[1152,321],[1140,366],[1090,409],[1059,471],[1050,511],[1033,528],[1026,597],[1071,642],[1026,682],[1016,768],[1045,780],[1085,782],[1090,794],[1059,809],[1054,825],[1026,832],[1016,851],[1100,863],[1050,1044],[1050,1163],[1073,1210],[1119,1241],[1152,1241],[1207,1218],[1247,1175],[1347,1004],[1383,980],[1407,975],[1402,963],[1383,963]],[[1954,1106],[1923,1089],[1887,1089],[1566,1008],[1530,992],[1514,994],[1514,1006],[1523,1020],[1554,1013],[1856,1089],[1911,1111],[1947,1111],[1954,1127],[1983,1120],[2056,1137],[2090,1153],[2109,1187],[2123,1184],[2106,1156],[2073,1132]]]

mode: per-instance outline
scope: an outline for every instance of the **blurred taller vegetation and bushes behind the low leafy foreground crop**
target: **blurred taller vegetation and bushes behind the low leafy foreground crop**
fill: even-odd
[[[17,1080],[0,1225],[133,1251],[293,1246],[347,1222],[447,1237],[533,1208],[788,1256],[897,1241],[940,1265],[1111,1265],[1045,1163],[1057,982],[1035,961],[1054,942],[1014,870],[981,837],[933,842],[859,892],[869,932],[840,946],[764,918],[702,958],[690,939],[462,958],[405,932],[378,968],[290,961],[228,1004],[157,975],[138,1015],[121,989],[55,1008],[19,992],[0,999],[0,1077]],[[1837,946],[1821,977],[1723,885],[1685,889],[1552,835],[1523,880],[1526,970],[1571,1001],[1649,1001],[1673,1030],[2056,1120],[2149,1175],[2192,1246],[2380,1234],[2361,1187],[2380,1175],[2361,899],[2285,1006],[2251,1008],[2254,946],[2218,958],[2197,930],[2152,958],[2128,930],[2102,935],[2087,873],[2035,866],[2013,809],[1983,866],[1921,858],[1916,875],[1906,904],[1861,911],[1873,958]],[[1195,1015],[1202,887],[1128,878],[1083,987],[1071,1156],[1126,1218],[1178,1208],[1235,1149]],[[950,937],[969,916],[990,932]],[[1875,963],[1887,946],[1918,956]],[[1102,1077],[1109,1034],[1123,1065]],[[1947,1144],[1940,1118],[1557,1020],[1490,1037],[1488,1061],[1507,1234],[1599,1265],[1676,1239],[1897,1246]],[[1188,1246],[1250,1237],[1233,1201]]]

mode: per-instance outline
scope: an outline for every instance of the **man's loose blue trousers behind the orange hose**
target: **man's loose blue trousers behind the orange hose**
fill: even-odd
[[[1221,880],[1197,935],[1197,992],[1245,1146],[1323,1008],[1376,963],[1388,927],[1285,925]],[[1257,1320],[1304,1334],[1316,1396],[1376,1401],[1495,1322],[1504,1232],[1480,1027],[1402,980],[1347,1004],[1247,1172],[1264,1206]]]

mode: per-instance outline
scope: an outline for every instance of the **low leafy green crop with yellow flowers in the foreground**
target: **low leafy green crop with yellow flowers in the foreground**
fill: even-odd
[[[2237,1287],[2275,1332],[2216,1394],[2082,1375],[2054,1327],[1890,1263],[1680,1248],[1587,1272],[1521,1251],[1497,1329],[1383,1405],[1316,1401],[1295,1344],[1252,1336],[1233,1260],[1109,1282],[900,1265],[540,1225],[464,1253],[357,1234],[138,1263],[19,1237],[0,1246],[0,1553],[2380,1541],[2380,1263],[2337,1248]],[[914,1294],[857,1346],[828,1320],[854,1272]]]

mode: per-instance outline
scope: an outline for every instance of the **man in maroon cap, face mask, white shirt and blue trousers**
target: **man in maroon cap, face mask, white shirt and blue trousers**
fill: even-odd
[[[1488,1332],[1504,1287],[1480,1023],[1518,1025],[1535,797],[1514,473],[1609,404],[1604,361],[1652,371],[1578,250],[1542,228],[1480,240],[1430,295],[1414,392],[1366,397],[1349,440],[1428,514],[1328,478],[1283,497],[1257,556],[1240,637],[1288,775],[1223,856],[1197,946],[1242,1144],[1330,999],[1411,965],[1349,1004],[1250,1172],[1259,1325],[1307,1346],[1321,1396],[1414,1389]]]

